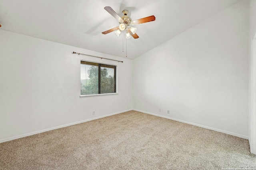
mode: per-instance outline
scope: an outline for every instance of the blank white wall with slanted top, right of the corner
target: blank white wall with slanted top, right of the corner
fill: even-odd
[[[133,108],[248,138],[248,11],[240,1],[134,59]]]

